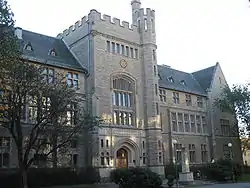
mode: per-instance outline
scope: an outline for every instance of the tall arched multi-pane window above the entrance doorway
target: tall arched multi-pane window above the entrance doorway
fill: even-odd
[[[127,77],[113,80],[113,122],[116,125],[134,123],[134,84]]]

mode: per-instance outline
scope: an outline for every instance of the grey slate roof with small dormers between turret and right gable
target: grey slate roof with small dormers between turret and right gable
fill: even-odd
[[[205,90],[195,77],[186,72],[158,65],[160,87],[206,96]]]

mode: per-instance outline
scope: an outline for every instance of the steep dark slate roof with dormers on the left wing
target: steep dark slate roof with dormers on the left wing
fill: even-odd
[[[61,39],[22,30],[21,43],[23,56],[28,60],[83,72],[86,70]],[[24,49],[27,44],[32,46],[32,51]],[[51,50],[56,52],[56,56],[50,55]]]

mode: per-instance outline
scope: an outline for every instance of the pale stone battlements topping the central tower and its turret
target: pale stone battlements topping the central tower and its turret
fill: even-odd
[[[147,16],[147,17],[155,17],[155,11],[151,10],[150,8],[146,9],[141,8],[139,11],[139,15]],[[76,30],[81,29],[82,27],[86,27],[88,24],[97,24],[97,23],[105,23],[105,24],[112,24],[113,26],[117,26],[123,28],[124,30],[138,32],[137,25],[130,24],[127,21],[121,21],[118,18],[112,18],[109,15],[101,14],[95,9],[90,10],[88,16],[84,16],[81,20],[77,21],[74,25],[71,25],[68,29],[65,29],[63,33],[57,35],[58,38],[64,38],[65,36],[70,35]]]

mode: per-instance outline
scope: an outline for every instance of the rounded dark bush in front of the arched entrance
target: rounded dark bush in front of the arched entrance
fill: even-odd
[[[162,184],[158,174],[145,168],[115,169],[110,179],[121,188],[160,188]]]

